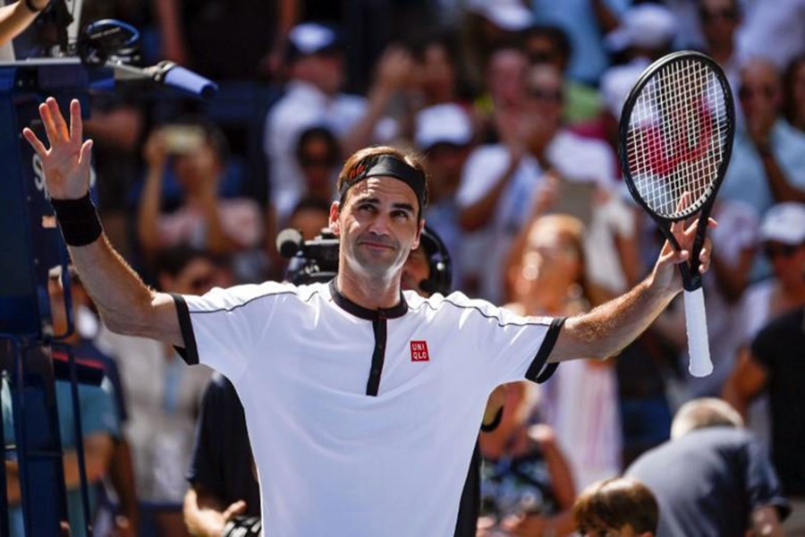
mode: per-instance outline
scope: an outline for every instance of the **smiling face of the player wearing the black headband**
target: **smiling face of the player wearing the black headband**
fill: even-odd
[[[370,177],[347,192],[343,208],[330,211],[330,227],[341,237],[342,267],[364,277],[400,277],[424,224],[419,200],[394,177]]]

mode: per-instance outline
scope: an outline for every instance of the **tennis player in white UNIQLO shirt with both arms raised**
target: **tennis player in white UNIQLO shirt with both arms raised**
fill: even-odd
[[[417,158],[392,148],[347,159],[330,209],[340,237],[328,284],[160,294],[114,251],[89,200],[92,141],[39,107],[49,147],[26,129],[81,280],[108,328],[175,345],[241,397],[268,535],[451,535],[489,392],[546,379],[559,362],[628,345],[682,291],[674,265],[693,228],[675,225],[650,276],[570,319],[518,317],[461,293],[400,289],[428,193]],[[709,245],[701,252],[709,264]],[[263,479],[265,476],[265,479]]]

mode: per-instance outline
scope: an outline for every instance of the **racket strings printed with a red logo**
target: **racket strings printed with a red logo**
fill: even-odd
[[[701,208],[729,128],[724,87],[708,64],[674,62],[648,81],[632,108],[626,149],[632,183],[649,209],[679,219]]]

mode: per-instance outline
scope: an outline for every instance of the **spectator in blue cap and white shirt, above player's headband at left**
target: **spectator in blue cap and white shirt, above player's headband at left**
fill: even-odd
[[[284,96],[268,112],[264,136],[271,203],[279,226],[284,225],[304,189],[294,153],[301,132],[311,126],[326,126],[335,133],[342,154],[369,144],[391,98],[403,84],[411,82],[413,70],[407,51],[390,48],[377,64],[377,80],[369,90],[369,99],[346,95],[340,92],[342,43],[333,28],[305,22],[291,30],[288,40],[290,81]]]

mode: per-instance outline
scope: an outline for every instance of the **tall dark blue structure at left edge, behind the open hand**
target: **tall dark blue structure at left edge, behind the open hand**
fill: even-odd
[[[0,124],[7,129],[0,134],[0,162],[4,165],[0,179],[0,229],[4,230],[0,243],[0,367],[7,380],[0,389],[10,387],[12,392],[14,450],[27,535],[55,535],[60,522],[66,520],[50,345],[68,334],[53,333],[47,283],[51,269],[59,266],[65,289],[69,289],[69,281],[67,252],[48,201],[41,162],[21,131],[28,126],[44,138],[38,105],[49,96],[62,103],[71,98],[86,101],[89,90],[113,87],[111,69],[87,68],[78,58],[0,64]],[[83,109],[89,110],[89,106]],[[69,293],[65,293],[65,302],[70,319]],[[5,458],[2,428],[0,453]],[[83,473],[81,449],[79,464]],[[0,465],[2,535],[9,534],[5,478],[4,465]]]

